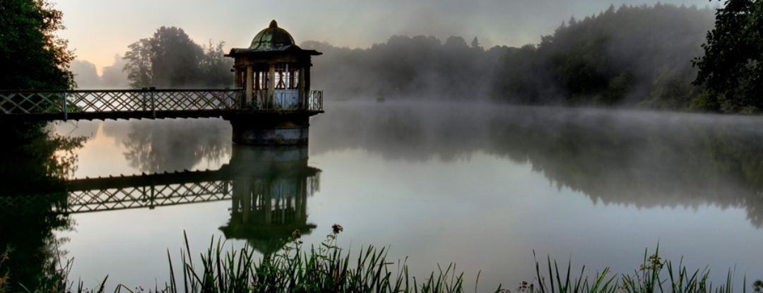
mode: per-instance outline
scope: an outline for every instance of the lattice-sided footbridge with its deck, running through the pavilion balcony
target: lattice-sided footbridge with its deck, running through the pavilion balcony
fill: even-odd
[[[243,101],[241,89],[140,89],[99,91],[0,92],[0,121],[105,120],[131,118],[211,118],[225,114],[323,112],[323,91],[278,90],[254,93]],[[269,96],[272,98],[262,98]],[[259,99],[257,99],[259,97]]]

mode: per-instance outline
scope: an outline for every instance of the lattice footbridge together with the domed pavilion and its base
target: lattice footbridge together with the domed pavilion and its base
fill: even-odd
[[[312,56],[275,20],[250,47],[233,48],[233,89],[0,91],[0,121],[221,117],[233,142],[306,144],[310,117],[323,113],[323,91],[312,90]]]

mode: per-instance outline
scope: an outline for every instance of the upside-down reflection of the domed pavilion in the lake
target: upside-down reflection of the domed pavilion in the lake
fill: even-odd
[[[294,230],[310,234],[307,198],[320,190],[320,169],[307,166],[307,145],[233,145],[232,208],[220,227],[228,239],[247,240],[263,254],[275,253]]]

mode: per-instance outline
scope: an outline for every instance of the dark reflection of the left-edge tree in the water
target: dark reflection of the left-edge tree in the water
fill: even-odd
[[[19,284],[34,290],[40,280],[50,275],[46,263],[54,262],[60,251],[57,245],[66,239],[56,239],[55,231],[71,230],[74,223],[68,215],[52,214],[55,204],[66,201],[65,192],[52,192],[24,207],[34,210],[24,216],[8,212],[19,207],[9,203],[30,195],[40,188],[56,190],[76,170],[74,153],[84,143],[84,137],[37,137],[23,146],[5,147],[0,162],[0,249],[11,248],[2,269],[8,269],[8,291],[22,291]]]

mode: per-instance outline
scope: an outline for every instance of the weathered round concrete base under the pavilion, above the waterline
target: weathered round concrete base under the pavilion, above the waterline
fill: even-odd
[[[310,116],[306,114],[252,114],[228,120],[233,126],[233,143],[252,146],[307,144],[310,134]]]

